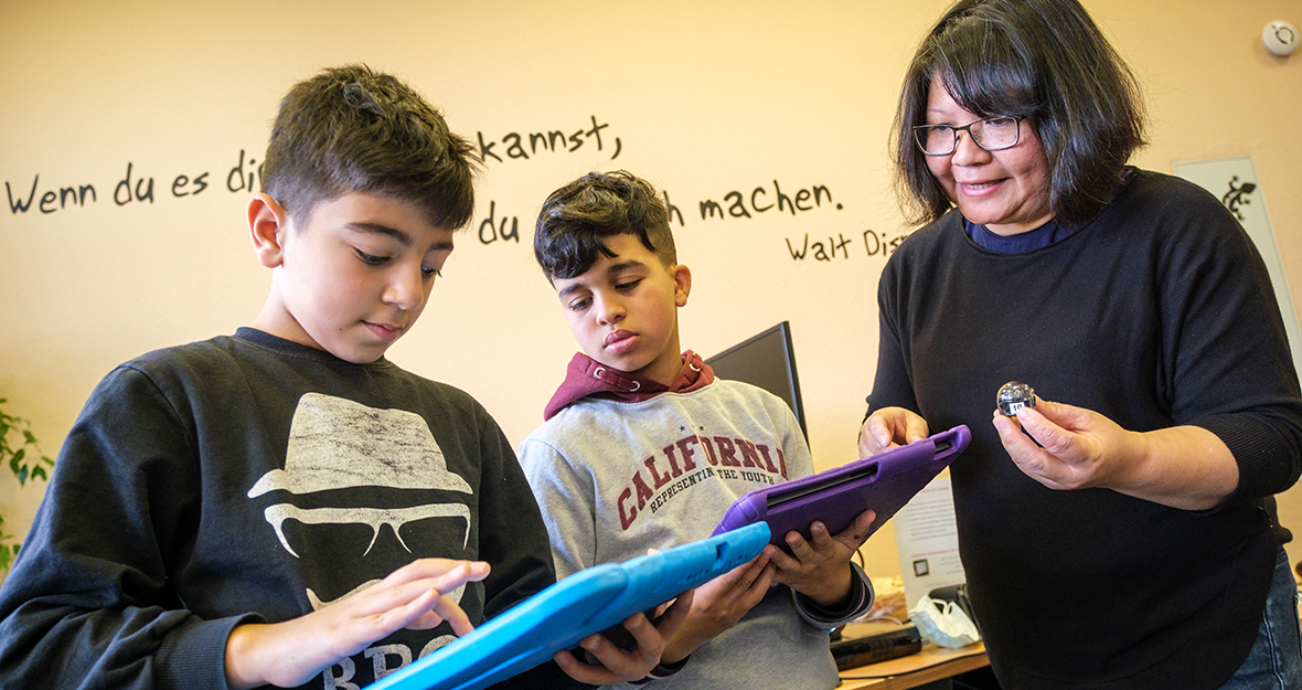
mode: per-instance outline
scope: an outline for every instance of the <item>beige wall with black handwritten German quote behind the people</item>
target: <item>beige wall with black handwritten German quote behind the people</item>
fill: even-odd
[[[602,150],[581,135],[578,151],[525,160],[496,145],[504,160],[490,161],[477,219],[396,362],[470,391],[523,439],[574,350],[530,256],[531,216],[559,184],[624,167],[663,186],[685,216],[676,233],[695,285],[684,345],[711,354],[790,320],[815,458],[853,460],[885,260],[865,233],[904,232],[887,133],[904,64],[947,4],[406,1],[359,13],[339,1],[5,3],[0,177],[10,199],[26,200],[34,181],[36,191],[31,210],[0,210],[0,397],[52,454],[116,363],[249,323],[268,276],[246,240],[247,190],[228,190],[228,173],[241,150],[246,172],[260,159],[290,83],[363,60],[406,77],[473,139],[514,131],[527,143],[530,131],[608,125]],[[1138,164],[1169,172],[1173,160],[1253,155],[1302,303],[1302,53],[1275,59],[1259,39],[1271,20],[1302,25],[1302,7],[1086,5],[1147,85],[1152,146]],[[128,163],[133,187],[154,180],[152,202],[115,202]],[[204,172],[208,187],[195,195]],[[763,187],[758,198],[772,202],[775,181],[793,198],[823,185],[833,202],[700,219],[698,202],[725,203],[733,190],[749,199]],[[98,200],[40,212],[46,191],[81,185]],[[490,208],[499,223],[518,219],[521,242],[482,241]],[[788,242],[799,249],[806,236],[849,243],[831,260],[794,260]],[[1294,529],[1299,491],[1282,501]],[[38,500],[39,488],[0,479],[16,531]],[[872,540],[870,572],[898,573],[892,539]]]

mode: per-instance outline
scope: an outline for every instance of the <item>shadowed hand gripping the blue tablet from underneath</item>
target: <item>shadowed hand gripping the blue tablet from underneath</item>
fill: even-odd
[[[585,664],[569,651],[559,651],[552,659],[569,677],[589,685],[617,685],[641,681],[660,665],[665,644],[682,628],[691,611],[693,590],[678,595],[654,622],[646,613],[634,613],[624,620],[624,629],[633,635],[637,648],[624,650],[600,633],[579,641],[579,646],[598,661]]]

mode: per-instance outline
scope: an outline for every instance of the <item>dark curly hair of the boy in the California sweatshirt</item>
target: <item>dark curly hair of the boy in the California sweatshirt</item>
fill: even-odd
[[[589,173],[543,202],[534,230],[534,258],[547,280],[587,272],[598,254],[615,258],[605,238],[633,234],[665,267],[678,263],[669,211],[646,180],[624,171]]]

